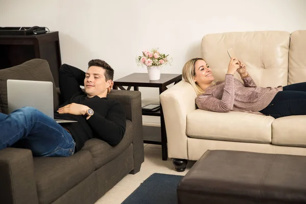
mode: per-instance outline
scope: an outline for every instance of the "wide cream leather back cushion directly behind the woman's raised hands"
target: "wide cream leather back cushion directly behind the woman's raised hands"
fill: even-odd
[[[230,62],[227,49],[233,48],[257,86],[285,86],[289,43],[290,33],[284,31],[208,34],[201,41],[201,57],[212,68],[215,81],[223,81]],[[241,80],[238,73],[235,78]]]

